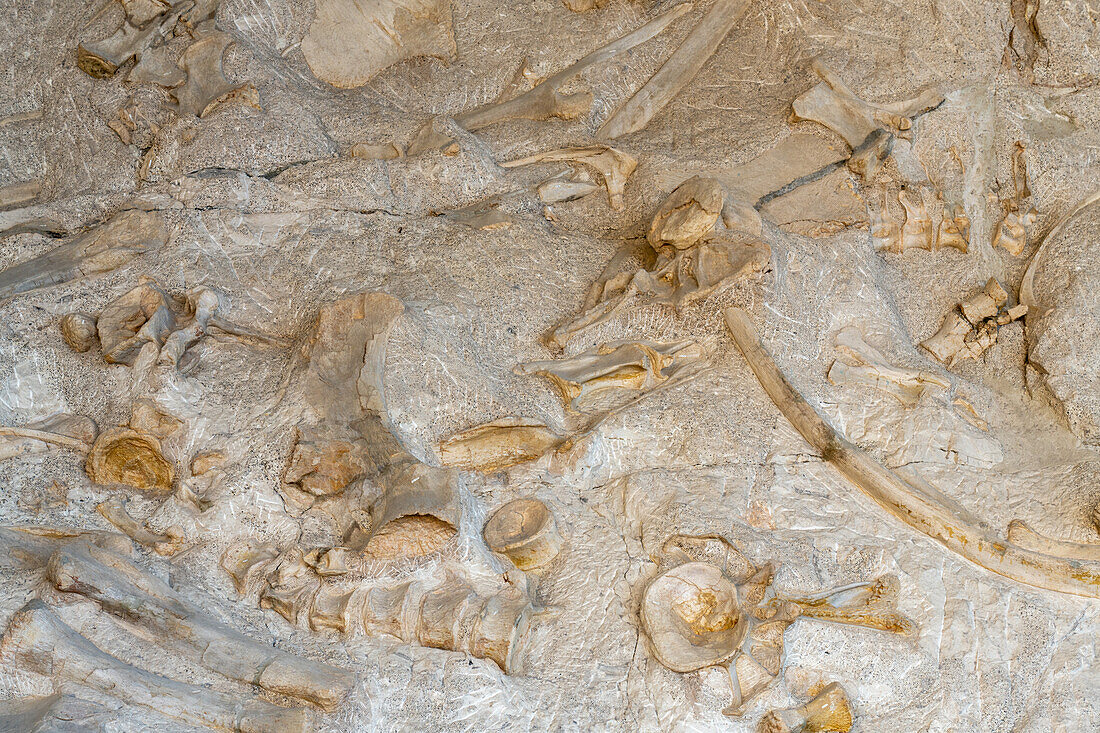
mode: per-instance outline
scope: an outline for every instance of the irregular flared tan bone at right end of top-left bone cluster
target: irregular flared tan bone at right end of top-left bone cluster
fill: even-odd
[[[173,89],[172,95],[180,114],[206,117],[230,101],[260,108],[260,97],[252,84],[233,84],[226,78],[222,56],[232,43],[228,33],[216,31],[187,46],[179,56],[177,64],[187,80]]]

